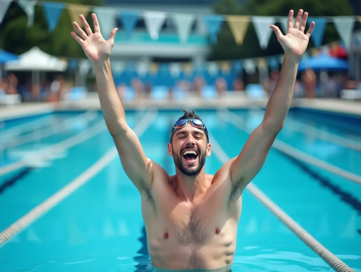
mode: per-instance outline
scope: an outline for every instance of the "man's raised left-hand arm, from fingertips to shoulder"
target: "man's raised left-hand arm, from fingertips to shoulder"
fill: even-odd
[[[137,135],[127,125],[124,109],[114,86],[109,56],[118,29],[113,29],[109,39],[105,40],[100,33],[99,22],[94,13],[92,19],[95,33],[92,33],[83,15],[80,15],[79,18],[86,32],[76,22],[73,22],[80,37],[74,32],[71,32],[71,35],[81,44],[84,52],[93,62],[100,106],[106,125],[113,136],[127,176],[140,189],[142,182],[150,184],[152,181],[151,160],[145,156]]]

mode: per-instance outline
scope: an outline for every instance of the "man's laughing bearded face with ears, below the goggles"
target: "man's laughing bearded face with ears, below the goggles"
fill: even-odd
[[[174,159],[175,166],[187,176],[198,174],[210,156],[210,144],[203,129],[188,123],[184,128],[174,131],[172,142],[168,144],[168,155]]]

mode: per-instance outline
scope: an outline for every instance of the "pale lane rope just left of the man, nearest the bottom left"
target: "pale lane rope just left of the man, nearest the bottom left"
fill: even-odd
[[[143,117],[134,128],[134,132],[138,135],[139,138],[156,120],[157,115],[158,111],[154,111],[152,109],[143,115]],[[93,165],[91,165],[87,170],[85,170],[82,174],[76,177],[73,181],[69,182],[68,185],[64,186],[51,197],[46,199],[43,203],[33,208],[26,215],[22,216],[16,222],[11,224],[8,228],[3,230],[0,233],[0,248],[3,247],[10,238],[23,231],[34,221],[36,221],[40,216],[44,215],[51,208],[55,207],[62,200],[64,200],[70,194],[74,193],[74,191],[79,189],[79,187],[88,182],[92,177],[94,177],[97,173],[103,170],[117,156],[117,148],[112,147],[108,152],[105,153],[105,155],[100,157],[100,159],[97,160]]]

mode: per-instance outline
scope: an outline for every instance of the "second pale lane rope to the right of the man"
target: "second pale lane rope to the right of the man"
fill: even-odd
[[[231,123],[236,128],[244,131],[247,134],[252,133],[252,129],[246,129],[246,128],[242,127],[241,124],[244,124],[244,119],[241,116],[239,116],[235,113],[232,113],[230,111],[227,111],[227,112],[228,112],[227,114],[229,115],[229,117],[225,118],[224,113],[223,113],[223,115],[222,114],[220,115],[221,118],[225,118],[225,120],[227,122]],[[320,160],[312,155],[306,154],[305,152],[300,151],[300,150],[296,149],[295,147],[292,147],[278,139],[275,139],[272,147],[276,148],[277,150],[279,150],[291,157],[301,160],[305,163],[312,164],[314,166],[317,166],[319,168],[327,170],[333,174],[336,174],[340,177],[347,178],[348,180],[351,180],[358,184],[361,184],[361,176],[358,176],[357,174],[351,173],[347,170],[344,170],[335,165],[327,163],[326,161]]]

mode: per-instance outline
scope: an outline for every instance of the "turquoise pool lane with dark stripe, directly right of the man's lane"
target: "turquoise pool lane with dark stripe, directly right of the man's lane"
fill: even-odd
[[[232,124],[212,130],[226,153],[238,155],[249,135]],[[223,140],[223,141],[222,141]],[[280,208],[345,263],[361,269],[359,186],[271,148],[253,182]],[[355,189],[355,190],[351,190]],[[358,189],[358,190],[357,190]],[[355,259],[356,258],[356,259]]]

